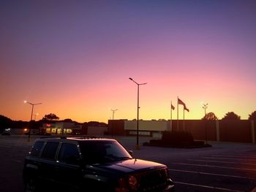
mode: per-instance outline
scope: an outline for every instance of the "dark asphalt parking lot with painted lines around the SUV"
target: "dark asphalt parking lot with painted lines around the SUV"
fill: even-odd
[[[0,191],[23,191],[23,158],[34,139],[26,136],[0,136]],[[135,158],[157,161],[169,167],[176,191],[251,192],[256,187],[256,145],[210,142],[212,147],[181,149],[143,146],[151,138],[114,137]]]

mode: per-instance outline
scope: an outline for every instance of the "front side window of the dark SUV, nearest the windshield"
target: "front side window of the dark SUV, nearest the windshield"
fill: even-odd
[[[80,154],[78,146],[72,143],[63,143],[59,151],[59,162],[66,164],[78,164]]]

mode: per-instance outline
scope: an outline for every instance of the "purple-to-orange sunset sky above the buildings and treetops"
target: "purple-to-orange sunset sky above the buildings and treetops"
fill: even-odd
[[[256,1],[0,1],[0,114],[80,123],[256,110]],[[183,107],[179,105],[179,119]]]

